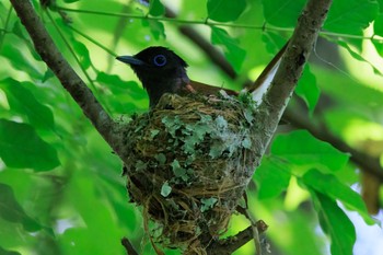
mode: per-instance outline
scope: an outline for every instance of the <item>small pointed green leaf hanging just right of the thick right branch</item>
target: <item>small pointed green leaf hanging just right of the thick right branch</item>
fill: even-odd
[[[310,71],[309,65],[305,66],[303,76],[298,82],[295,93],[306,103],[310,113],[313,113],[321,91],[317,86],[315,76]]]

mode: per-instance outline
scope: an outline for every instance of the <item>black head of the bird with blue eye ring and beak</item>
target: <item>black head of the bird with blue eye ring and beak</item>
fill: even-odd
[[[178,93],[189,82],[185,60],[165,47],[149,47],[135,56],[119,56],[117,60],[128,63],[136,72],[149,94],[151,107],[164,93]]]

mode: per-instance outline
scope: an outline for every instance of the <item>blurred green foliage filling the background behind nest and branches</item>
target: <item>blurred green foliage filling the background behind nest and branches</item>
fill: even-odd
[[[123,119],[147,111],[148,98],[116,55],[164,45],[187,60],[194,80],[240,90],[289,38],[305,3],[57,0],[44,9],[33,2],[62,54]],[[164,4],[176,19],[164,18]],[[290,105],[375,158],[383,152],[382,21],[382,0],[336,0]],[[140,209],[128,204],[120,161],[42,62],[8,1],[0,2],[0,254],[124,254],[121,236],[154,254]],[[179,32],[185,25],[223,53],[235,79]],[[292,125],[276,135],[247,194],[254,217],[270,225],[272,254],[372,254],[353,247],[365,233],[356,232],[349,211],[358,212],[358,224],[376,220],[355,192],[361,170],[349,158]],[[228,234],[235,234],[247,221],[235,216],[231,227]]]

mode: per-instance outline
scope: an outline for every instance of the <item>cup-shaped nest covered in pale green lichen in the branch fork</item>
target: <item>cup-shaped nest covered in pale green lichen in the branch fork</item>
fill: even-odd
[[[124,127],[127,188],[151,240],[205,254],[228,230],[254,172],[254,119],[247,95],[165,94]]]

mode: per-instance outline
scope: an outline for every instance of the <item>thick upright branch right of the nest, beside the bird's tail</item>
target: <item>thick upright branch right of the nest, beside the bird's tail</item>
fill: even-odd
[[[280,117],[302,76],[303,68],[314,48],[332,0],[309,0],[290,39],[278,71],[265,94],[259,111],[267,112],[266,128],[274,134]]]

